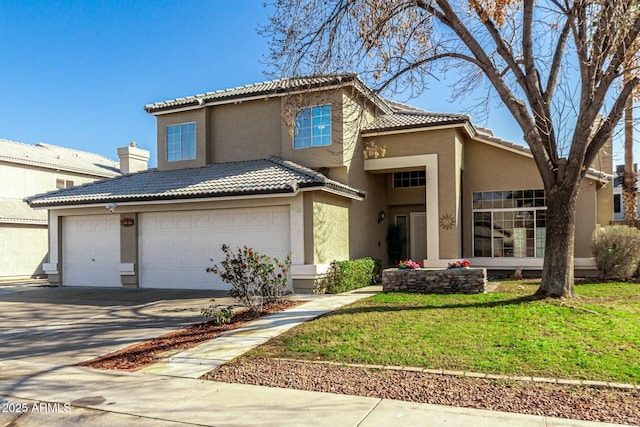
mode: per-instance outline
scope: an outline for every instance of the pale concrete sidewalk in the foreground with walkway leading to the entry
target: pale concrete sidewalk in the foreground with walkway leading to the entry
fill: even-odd
[[[308,303],[259,319],[141,372],[65,366],[59,359],[0,360],[0,425],[605,425],[193,378],[289,328],[370,294],[371,289],[363,289],[309,296]]]

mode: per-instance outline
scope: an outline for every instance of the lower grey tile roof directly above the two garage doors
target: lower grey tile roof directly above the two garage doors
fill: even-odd
[[[364,197],[362,191],[332,181],[319,172],[270,157],[199,168],[151,169],[36,195],[27,201],[33,207],[44,207],[293,193],[310,187],[327,188],[347,197]]]

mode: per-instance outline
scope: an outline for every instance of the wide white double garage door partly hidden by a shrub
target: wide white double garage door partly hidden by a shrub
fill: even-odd
[[[284,259],[290,250],[289,207],[145,213],[140,216],[140,286],[228,289],[206,268],[220,246],[247,245]]]

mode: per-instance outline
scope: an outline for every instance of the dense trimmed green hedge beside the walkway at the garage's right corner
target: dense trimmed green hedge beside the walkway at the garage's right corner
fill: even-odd
[[[375,280],[375,266],[376,263],[371,258],[333,261],[327,276],[316,287],[316,292],[338,294],[369,286]]]

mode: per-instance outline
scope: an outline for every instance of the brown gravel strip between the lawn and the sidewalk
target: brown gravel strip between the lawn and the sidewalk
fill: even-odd
[[[640,391],[239,359],[202,379],[640,425]]]

